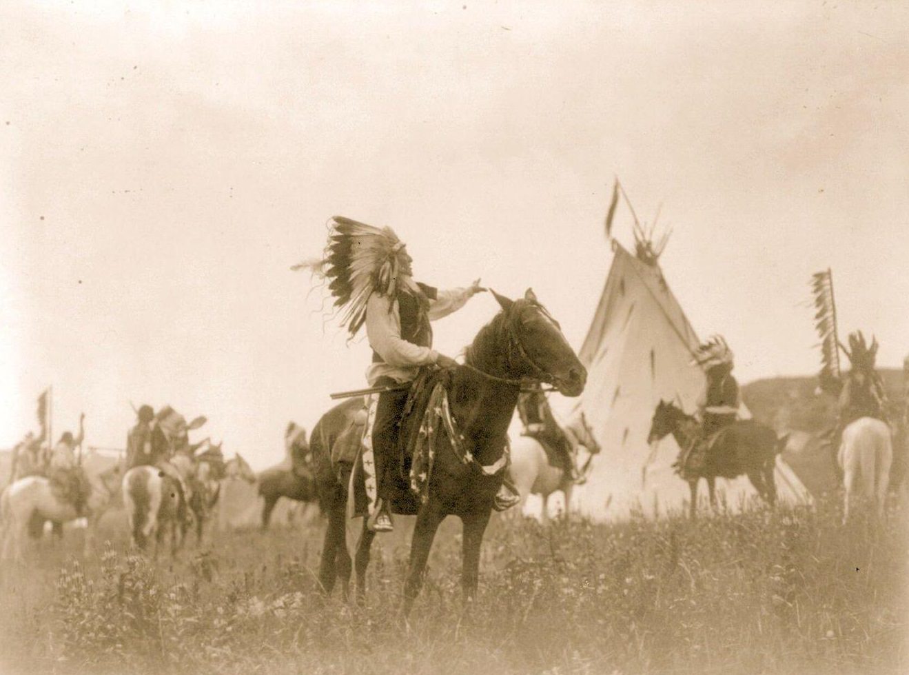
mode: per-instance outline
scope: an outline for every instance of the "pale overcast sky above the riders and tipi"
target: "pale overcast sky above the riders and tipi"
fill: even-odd
[[[665,276],[742,381],[816,370],[825,267],[841,330],[909,352],[909,5],[80,5],[0,5],[0,447],[53,383],[55,437],[85,410],[123,447],[130,401],[170,403],[279,459],[365,386],[288,270],[335,214],[395,227],[436,286],[534,287],[579,348],[615,175],[663,204]]]

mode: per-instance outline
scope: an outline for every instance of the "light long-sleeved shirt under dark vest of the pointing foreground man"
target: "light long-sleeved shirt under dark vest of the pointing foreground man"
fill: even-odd
[[[464,307],[469,298],[469,288],[440,290],[435,300],[429,301],[429,320],[447,317]],[[432,347],[420,347],[401,337],[398,301],[377,293],[366,302],[366,337],[369,346],[382,359],[366,370],[366,379],[371,387],[375,387],[379,378],[410,382],[416,378],[421,366],[434,364],[439,358],[438,352]]]

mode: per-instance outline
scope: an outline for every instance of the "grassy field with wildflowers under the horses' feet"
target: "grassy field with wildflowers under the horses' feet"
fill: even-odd
[[[460,526],[436,539],[409,626],[404,532],[379,539],[364,607],[323,599],[318,523],[215,534],[153,566],[119,519],[2,569],[3,672],[905,673],[906,519],[833,507],[544,528],[494,521],[460,603]],[[399,528],[405,529],[405,528]]]

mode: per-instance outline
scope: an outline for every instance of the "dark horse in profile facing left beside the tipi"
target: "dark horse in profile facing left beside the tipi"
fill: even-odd
[[[672,434],[679,448],[689,448],[700,433],[701,425],[694,415],[686,415],[682,408],[660,399],[647,442],[653,445]],[[711,444],[700,470],[683,477],[691,489],[691,517],[694,518],[697,510],[697,483],[702,478],[707,480],[711,507],[716,504],[715,479],[734,479],[742,474],[748,476],[761,498],[773,506],[776,501],[774,466],[785,437],[777,439],[772,428],[754,419],[738,420],[720,433],[724,436]]]

